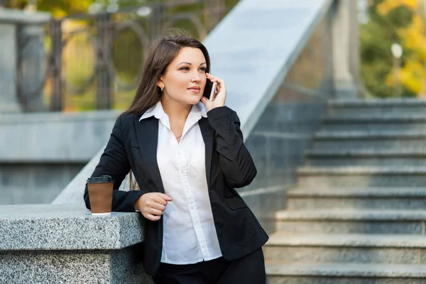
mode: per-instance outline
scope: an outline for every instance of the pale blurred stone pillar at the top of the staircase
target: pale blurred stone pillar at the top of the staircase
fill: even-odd
[[[336,98],[358,97],[359,23],[356,1],[339,0],[333,19],[333,72]]]

